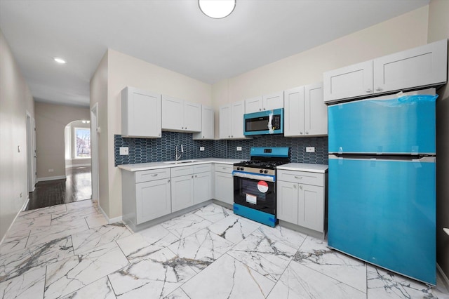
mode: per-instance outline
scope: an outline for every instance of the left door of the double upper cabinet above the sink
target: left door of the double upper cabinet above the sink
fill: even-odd
[[[162,128],[181,131],[184,127],[184,100],[162,95]]]

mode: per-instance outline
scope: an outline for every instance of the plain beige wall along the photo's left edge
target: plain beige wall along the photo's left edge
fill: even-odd
[[[1,240],[27,201],[27,112],[34,117],[32,94],[1,29],[0,78]]]

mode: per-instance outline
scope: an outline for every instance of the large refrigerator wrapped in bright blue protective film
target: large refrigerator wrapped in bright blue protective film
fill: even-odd
[[[435,89],[328,107],[328,245],[436,284]]]

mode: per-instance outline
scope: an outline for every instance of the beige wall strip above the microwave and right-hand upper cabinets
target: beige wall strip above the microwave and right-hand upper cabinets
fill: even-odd
[[[428,11],[429,7],[424,6],[309,51],[220,81],[213,85],[215,111],[220,105],[230,102],[323,81],[323,72],[331,69],[427,44]],[[218,128],[216,113],[215,136],[218,136]]]

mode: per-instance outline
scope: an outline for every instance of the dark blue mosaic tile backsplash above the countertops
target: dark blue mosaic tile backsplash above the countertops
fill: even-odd
[[[328,164],[328,138],[285,138],[283,135],[261,135],[248,140],[192,140],[192,133],[162,132],[161,138],[122,138],[114,135],[115,166],[175,160],[176,146],[184,148],[181,159],[227,158],[250,159],[251,147],[289,147],[293,163]],[[119,155],[119,147],[128,147],[128,156]],[[199,147],[204,147],[200,151]],[[237,151],[236,147],[242,147]],[[315,147],[315,152],[306,152]]]

